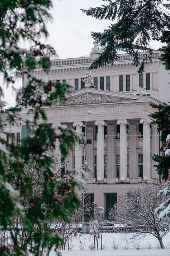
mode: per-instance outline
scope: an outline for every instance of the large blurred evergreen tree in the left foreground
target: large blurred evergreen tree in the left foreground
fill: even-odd
[[[57,179],[53,172],[53,158],[46,154],[46,151],[54,150],[57,139],[65,157],[72,143],[79,139],[66,125],[58,127],[55,134],[43,111],[43,107],[50,106],[53,100],[65,100],[63,92],[70,92],[70,86],[44,82],[32,76],[37,66],[48,73],[49,58],[56,54],[50,45],[41,43],[41,38],[48,36],[46,23],[52,19],[51,7],[51,0],[0,1],[0,74],[4,77],[4,84],[13,88],[18,78],[27,81],[22,90],[15,89],[15,108],[10,112],[1,111],[1,133],[13,139],[4,130],[3,115],[8,114],[11,125],[20,118],[17,115],[20,107],[28,109],[28,119],[24,117],[22,122],[28,130],[31,125],[34,127],[34,136],[22,143],[9,144],[0,138],[0,226],[1,230],[10,233],[10,243],[0,247],[0,255],[49,255],[54,245],[62,243],[62,238],[49,228],[48,220],[61,218],[67,222],[69,212],[80,206],[74,176],[68,174],[66,180]],[[27,42],[27,48],[21,48],[21,42]],[[44,94],[48,96],[47,100],[42,100]],[[2,87],[0,96],[2,105]],[[32,108],[35,111],[31,113],[30,121],[29,109]],[[36,178],[33,179],[27,170],[35,170]],[[35,193],[37,188],[40,193]]]

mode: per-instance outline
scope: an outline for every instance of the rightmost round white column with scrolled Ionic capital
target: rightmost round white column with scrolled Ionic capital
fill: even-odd
[[[151,180],[151,146],[149,118],[141,119],[143,123],[143,180]]]

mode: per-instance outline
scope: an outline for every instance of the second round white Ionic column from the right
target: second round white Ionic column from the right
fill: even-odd
[[[120,180],[126,182],[127,180],[127,130],[126,125],[128,121],[118,120],[117,124],[120,125]]]

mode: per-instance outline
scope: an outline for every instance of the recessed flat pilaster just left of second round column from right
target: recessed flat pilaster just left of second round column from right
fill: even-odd
[[[115,165],[114,165],[114,131],[115,125],[107,126],[108,133],[108,178],[115,178]]]

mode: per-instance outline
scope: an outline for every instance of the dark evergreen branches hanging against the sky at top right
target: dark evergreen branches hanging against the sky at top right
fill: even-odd
[[[96,19],[108,19],[110,26],[101,33],[91,32],[92,37],[105,47],[103,53],[91,64],[97,68],[117,60],[117,49],[127,51],[133,57],[133,64],[139,66],[138,72],[144,71],[146,61],[152,61],[153,50],[150,41],[157,40],[167,44],[159,50],[161,60],[170,70],[170,4],[163,0],[103,0],[108,4],[101,7],[82,10]],[[160,8],[159,6],[163,6]],[[137,45],[134,50],[134,44]],[[140,59],[139,49],[147,50]]]

